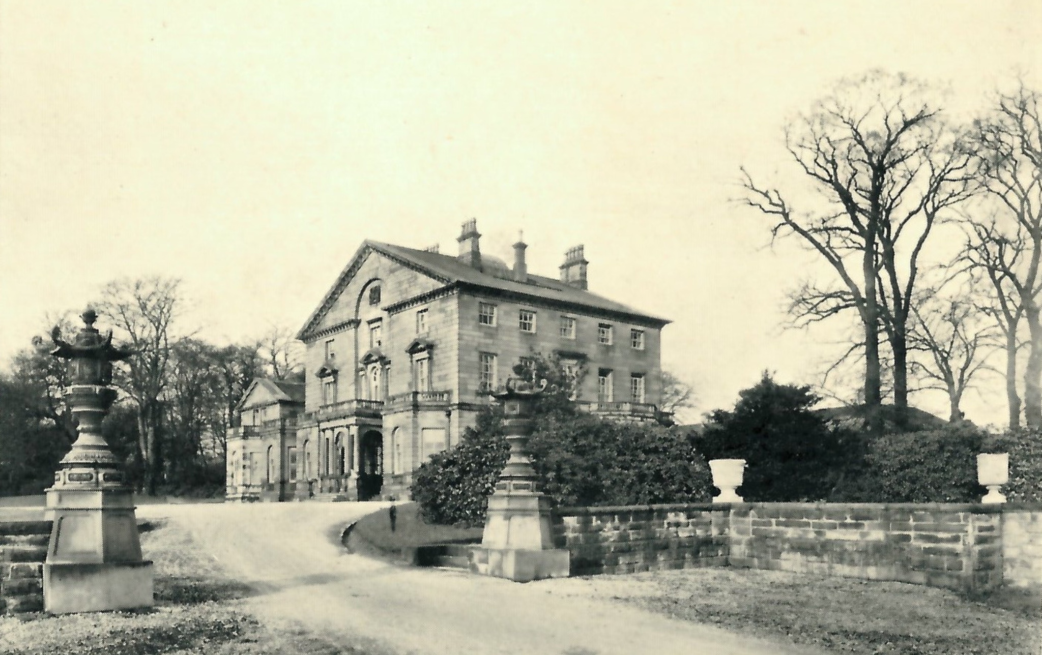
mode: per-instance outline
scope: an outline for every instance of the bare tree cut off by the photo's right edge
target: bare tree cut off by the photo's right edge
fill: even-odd
[[[993,289],[987,307],[1002,332],[1010,426],[1020,425],[1018,354],[1023,324],[1027,358],[1023,372],[1024,421],[1042,426],[1042,123],[1039,93],[1022,83],[999,96],[978,121],[975,173],[987,192],[987,219],[965,217],[965,269]]]

